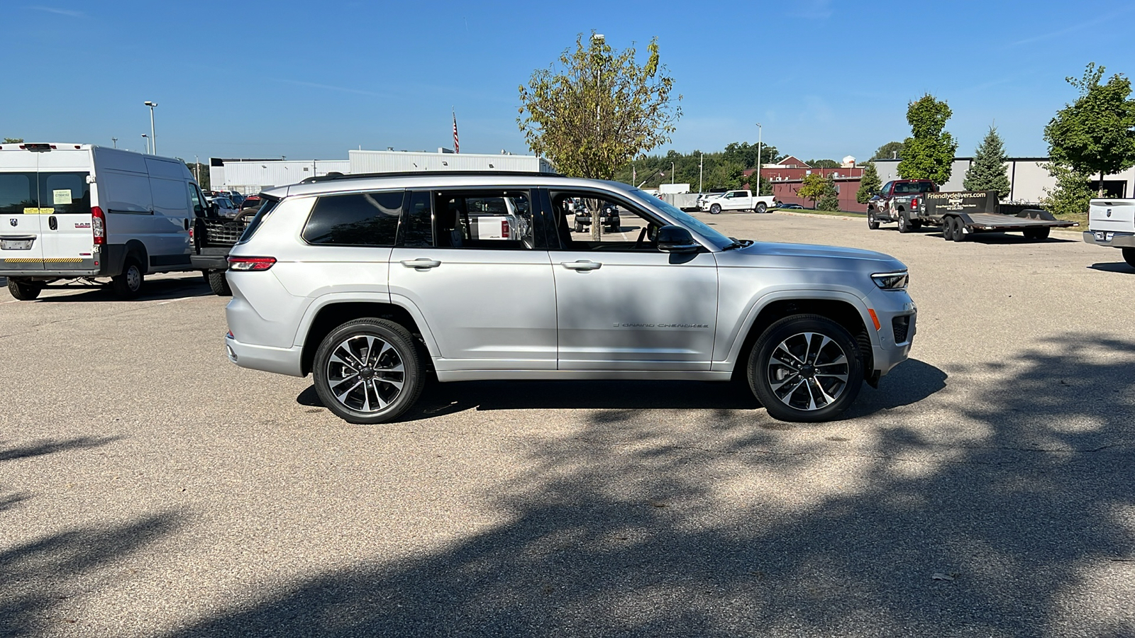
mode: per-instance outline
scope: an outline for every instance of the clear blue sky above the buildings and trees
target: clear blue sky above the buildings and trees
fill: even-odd
[[[764,141],[801,159],[909,134],[925,92],[972,154],[990,124],[1017,157],[1090,61],[1135,75],[1135,3],[1061,2],[78,2],[8,0],[0,136],[163,156],[346,158],[347,149],[528,152],[518,86],[578,33],[657,36],[683,95],[672,144]]]

